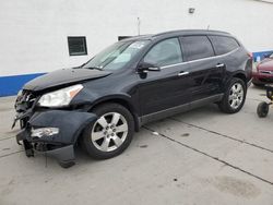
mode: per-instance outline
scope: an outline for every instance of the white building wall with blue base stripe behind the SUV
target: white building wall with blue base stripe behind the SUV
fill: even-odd
[[[80,65],[118,36],[139,32],[221,29],[249,51],[273,50],[272,20],[270,0],[1,1],[0,96],[15,94],[39,73]],[[68,37],[74,36],[85,37],[87,55],[70,56]]]

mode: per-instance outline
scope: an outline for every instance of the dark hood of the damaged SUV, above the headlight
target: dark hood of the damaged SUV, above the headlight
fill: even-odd
[[[26,83],[23,89],[39,92],[57,86],[64,86],[81,81],[99,79],[111,74],[108,71],[99,71],[95,69],[62,69],[50,72],[48,74],[36,77]]]

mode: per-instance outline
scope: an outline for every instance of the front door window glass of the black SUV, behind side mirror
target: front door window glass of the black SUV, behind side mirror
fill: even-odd
[[[182,62],[179,40],[177,38],[170,38],[158,43],[144,57],[144,62],[158,67]]]

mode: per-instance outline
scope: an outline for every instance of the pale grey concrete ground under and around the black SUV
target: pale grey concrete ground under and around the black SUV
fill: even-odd
[[[264,91],[250,87],[244,109],[215,105],[147,124],[120,156],[76,165],[27,158],[15,142],[14,97],[0,98],[0,205],[273,205],[273,109],[259,119]]]

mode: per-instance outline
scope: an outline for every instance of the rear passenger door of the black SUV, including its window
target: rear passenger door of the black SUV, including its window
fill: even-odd
[[[190,64],[192,101],[207,98],[221,93],[225,64],[215,57],[207,36],[182,36],[180,38],[183,59]]]

